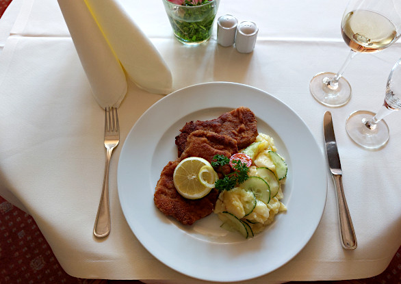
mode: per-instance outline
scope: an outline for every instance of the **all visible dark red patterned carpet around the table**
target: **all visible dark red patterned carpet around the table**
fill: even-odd
[[[11,1],[0,0],[0,17]],[[66,274],[55,259],[34,219],[0,196],[0,283],[139,284],[141,282],[78,279]],[[376,277],[324,283],[401,284],[401,248],[398,249],[387,270]]]

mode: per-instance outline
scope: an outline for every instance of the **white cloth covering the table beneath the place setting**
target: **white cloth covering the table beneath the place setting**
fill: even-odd
[[[265,90],[305,120],[324,151],[322,117],[328,108],[309,94],[309,81],[315,73],[336,72],[348,54],[339,30],[345,0],[222,0],[218,16],[257,23],[257,44],[250,54],[220,47],[216,33],[207,44],[187,47],[173,38],[161,1],[120,1],[166,60],[174,90],[208,81]],[[112,231],[105,240],[92,235],[103,182],[104,113],[91,94],[57,1],[14,0],[0,21],[0,35],[1,196],[34,217],[68,274],[190,281],[150,255],[129,229],[117,193],[121,146],[110,170]],[[387,76],[400,55],[396,43],[355,57],[344,75],[352,84],[352,99],[330,109],[358,248],[341,247],[335,191],[328,179],[326,208],[310,242],[292,261],[253,283],[365,278],[391,261],[401,244],[400,114],[385,118],[391,139],[380,151],[359,148],[344,123],[354,110],[376,111],[383,103]],[[161,97],[129,82],[118,113],[120,144]]]

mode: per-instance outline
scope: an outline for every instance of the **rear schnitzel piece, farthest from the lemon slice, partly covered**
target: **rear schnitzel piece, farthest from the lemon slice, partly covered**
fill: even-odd
[[[187,122],[180,129],[181,133],[175,138],[179,157],[187,147],[188,135],[196,130],[212,131],[234,138],[237,141],[238,149],[244,149],[255,142],[258,134],[255,114],[248,107],[238,107],[213,120]]]

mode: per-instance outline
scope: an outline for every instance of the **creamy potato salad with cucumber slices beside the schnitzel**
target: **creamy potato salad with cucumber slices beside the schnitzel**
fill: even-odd
[[[277,153],[273,138],[264,133],[240,152],[251,160],[248,179],[220,192],[214,213],[222,220],[223,229],[253,237],[271,224],[276,214],[287,210],[281,202],[287,164]]]

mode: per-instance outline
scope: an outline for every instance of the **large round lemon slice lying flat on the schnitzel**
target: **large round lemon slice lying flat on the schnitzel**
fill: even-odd
[[[200,157],[183,159],[174,170],[172,179],[177,192],[188,199],[198,199],[206,196],[211,188],[207,188],[198,180],[198,174],[203,166],[210,166],[207,160]]]

